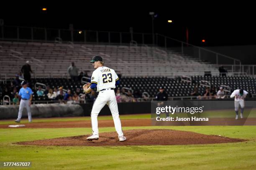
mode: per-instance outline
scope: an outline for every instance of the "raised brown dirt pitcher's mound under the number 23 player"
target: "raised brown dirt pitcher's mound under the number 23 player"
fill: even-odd
[[[210,143],[234,143],[246,141],[243,139],[226,138],[216,135],[179,130],[125,130],[124,142],[119,142],[117,133],[100,133],[99,140],[87,141],[89,135],[54,138],[18,142],[20,145],[58,145],[58,146],[127,146],[127,145],[190,145]]]

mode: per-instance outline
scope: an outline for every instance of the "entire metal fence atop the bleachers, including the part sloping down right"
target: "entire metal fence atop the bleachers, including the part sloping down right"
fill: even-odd
[[[6,26],[0,27],[0,40],[15,41],[37,41],[37,42],[66,42],[71,43],[97,43],[111,45],[157,45],[163,49],[171,49],[181,52],[183,55],[192,56],[202,61],[212,64],[230,64],[233,63],[233,69],[242,72],[241,61],[198,47],[187,42],[183,42],[161,34],[136,33],[136,32],[107,32],[92,30],[69,30],[69,29],[51,29],[51,28],[32,28]],[[254,68],[254,67],[253,67]]]

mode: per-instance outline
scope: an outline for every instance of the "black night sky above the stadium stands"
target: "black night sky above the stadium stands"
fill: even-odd
[[[183,2],[150,2],[142,5],[125,1],[109,3],[75,2],[73,5],[1,5],[0,18],[5,25],[34,26],[46,28],[102,30],[129,32],[152,32],[151,16],[154,11],[155,32],[185,41],[186,28],[189,30],[189,43],[202,46],[248,45],[255,42],[255,19],[252,4],[223,4],[212,1],[202,4]],[[144,2],[146,3],[146,1]],[[201,6],[201,7],[200,7]],[[47,12],[41,10],[47,7]],[[173,20],[173,23],[167,23]],[[205,39],[205,44],[201,40]]]

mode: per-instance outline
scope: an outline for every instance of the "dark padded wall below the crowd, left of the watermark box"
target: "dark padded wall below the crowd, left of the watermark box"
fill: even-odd
[[[93,103],[86,104],[35,104],[31,105],[32,117],[71,117],[90,116]],[[118,103],[119,114],[150,113],[151,102],[125,102]],[[1,119],[16,119],[18,117],[18,105],[0,106]],[[108,105],[102,108],[100,115],[111,115]],[[24,108],[22,117],[28,117]]]

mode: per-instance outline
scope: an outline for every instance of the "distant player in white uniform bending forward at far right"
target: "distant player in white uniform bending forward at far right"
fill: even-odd
[[[239,105],[241,107],[241,114],[240,117],[243,118],[243,110],[244,110],[244,98],[248,92],[243,89],[237,89],[232,92],[230,95],[231,98],[235,97],[235,111],[236,111],[236,120],[238,119],[238,109]]]

